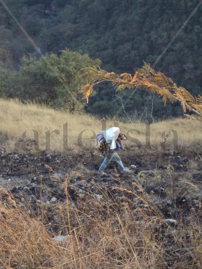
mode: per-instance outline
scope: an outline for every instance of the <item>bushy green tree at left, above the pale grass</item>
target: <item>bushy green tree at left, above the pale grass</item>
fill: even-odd
[[[45,103],[56,109],[80,111],[84,102],[78,96],[78,89],[87,83],[82,69],[100,64],[87,54],[68,49],[62,50],[59,56],[23,57],[21,69],[10,77],[12,92],[9,97]]]

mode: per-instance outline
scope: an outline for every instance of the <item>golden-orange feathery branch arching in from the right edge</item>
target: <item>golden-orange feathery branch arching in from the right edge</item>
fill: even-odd
[[[83,93],[83,98],[87,99],[87,103],[93,87],[109,81],[116,91],[140,89],[157,93],[162,97],[164,104],[167,100],[172,103],[178,101],[181,103],[185,116],[202,120],[202,95],[193,96],[188,90],[178,87],[171,78],[165,76],[162,72],[156,72],[149,64],[144,63],[144,66],[139,68],[134,76],[129,73],[117,75],[99,67],[87,67],[84,74],[90,83],[80,89],[80,92]],[[194,112],[195,115],[189,115],[187,112]]]

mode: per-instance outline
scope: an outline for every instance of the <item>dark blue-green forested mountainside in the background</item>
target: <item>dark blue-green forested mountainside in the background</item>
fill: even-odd
[[[5,3],[42,53],[60,54],[64,48],[80,50],[100,59],[101,67],[107,71],[133,73],[143,61],[151,65],[156,61],[199,0],[5,0]],[[201,44],[202,6],[155,68],[192,93],[201,93]],[[16,72],[21,66],[20,59],[27,53],[40,57],[0,6],[1,67]],[[130,94],[130,90],[127,94],[123,92],[120,99],[108,85],[97,92],[86,110],[98,115],[116,114]],[[112,100],[115,100],[113,106]],[[142,118],[150,120],[152,102],[152,96],[135,93],[125,110],[130,117],[140,118],[143,113]],[[155,119],[181,113],[178,104],[163,107],[160,100],[154,100]]]

